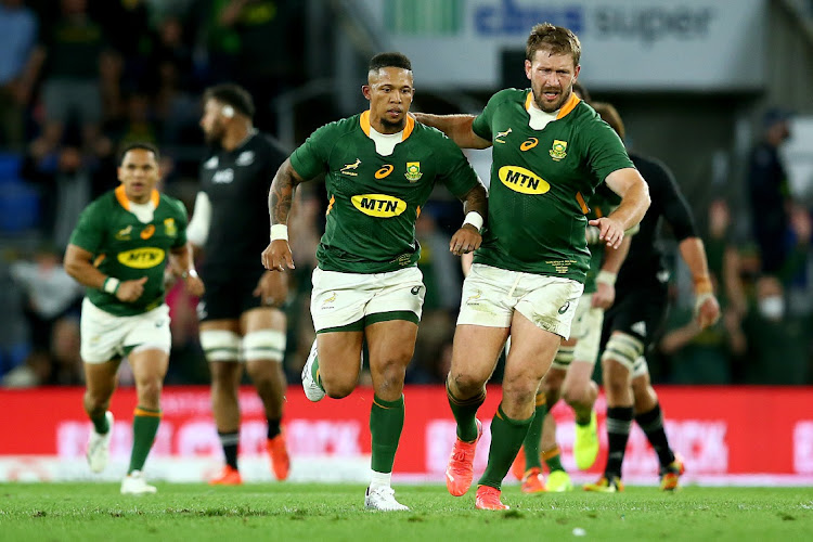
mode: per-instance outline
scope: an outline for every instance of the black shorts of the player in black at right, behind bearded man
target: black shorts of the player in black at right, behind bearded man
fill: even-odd
[[[666,319],[668,287],[651,281],[634,289],[617,291],[616,302],[604,313],[602,350],[612,332],[619,331],[641,340],[646,352]]]

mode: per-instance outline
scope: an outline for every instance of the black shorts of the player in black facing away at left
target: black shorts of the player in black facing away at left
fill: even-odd
[[[202,275],[206,292],[197,304],[197,319],[208,320],[238,320],[251,309],[262,307],[260,296],[254,295],[254,289],[264,270],[235,274],[225,279],[209,279]]]

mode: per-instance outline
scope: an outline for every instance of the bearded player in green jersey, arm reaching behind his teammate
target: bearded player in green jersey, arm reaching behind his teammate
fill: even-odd
[[[492,149],[489,220],[463,286],[447,380],[457,439],[447,488],[464,494],[474,477],[481,425],[477,409],[508,335],[503,399],[491,423],[491,449],[475,506],[505,509],[502,480],[528,433],[534,397],[570,323],[590,262],[585,202],[605,182],[621,196],[608,216],[591,220],[617,248],[649,205],[646,182],[621,140],[572,93],[581,44],[567,28],[541,24],[526,44],[531,88],[494,94],[483,112],[422,115],[463,147]]]

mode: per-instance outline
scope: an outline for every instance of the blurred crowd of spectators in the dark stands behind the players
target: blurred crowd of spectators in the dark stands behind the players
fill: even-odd
[[[238,82],[257,104],[255,125],[273,133],[274,98],[305,82],[302,4],[0,0],[3,386],[81,383],[82,292],[61,266],[80,210],[115,186],[116,150],[147,141],[165,156],[163,190],[191,212],[205,153],[201,92]],[[317,126],[334,118],[324,116]],[[813,384],[813,224],[810,209],[791,195],[778,152],[788,127],[787,112],[769,111],[745,178],[731,180],[744,188],[749,209],[734,208],[722,195],[695,209],[724,317],[699,332],[692,322],[691,278],[674,263],[673,302],[649,363],[654,382]],[[297,261],[287,306],[291,382],[298,380],[313,337],[308,299],[322,192],[306,186],[291,222]],[[749,227],[738,228],[746,217]],[[463,280],[448,240],[462,219],[459,203],[438,199],[417,223],[427,295],[408,383],[441,383],[448,372]],[[668,232],[663,242],[670,246]],[[168,304],[173,350],[167,382],[208,383],[196,300],[173,288]]]

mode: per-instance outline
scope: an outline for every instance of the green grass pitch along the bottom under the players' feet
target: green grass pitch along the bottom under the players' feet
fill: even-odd
[[[396,485],[411,512],[371,513],[360,485],[156,486],[126,498],[114,483],[0,483],[0,540],[813,540],[813,488],[525,495],[508,486],[512,509],[494,513],[474,509],[474,490]]]

